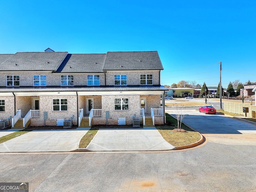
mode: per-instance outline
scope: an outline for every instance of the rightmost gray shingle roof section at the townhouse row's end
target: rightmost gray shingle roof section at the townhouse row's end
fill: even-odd
[[[157,51],[107,52],[103,70],[163,70]]]

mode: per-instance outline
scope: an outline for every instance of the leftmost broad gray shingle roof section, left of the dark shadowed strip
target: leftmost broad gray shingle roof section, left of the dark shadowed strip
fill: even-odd
[[[0,64],[0,70],[56,70],[67,53],[68,52],[17,52]],[[2,56],[0,56],[0,58],[2,58]]]

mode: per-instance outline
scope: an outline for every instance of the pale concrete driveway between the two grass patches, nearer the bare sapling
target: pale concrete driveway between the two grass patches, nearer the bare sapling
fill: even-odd
[[[172,150],[155,127],[134,129],[100,129],[86,150],[90,151],[154,151]]]

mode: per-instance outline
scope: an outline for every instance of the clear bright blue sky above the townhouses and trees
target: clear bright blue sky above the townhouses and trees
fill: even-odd
[[[254,0],[2,0],[0,54],[157,50],[161,84],[256,82]]]

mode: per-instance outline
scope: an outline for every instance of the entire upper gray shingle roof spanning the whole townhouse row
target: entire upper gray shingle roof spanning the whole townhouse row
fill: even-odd
[[[56,70],[56,72],[103,72],[103,70],[163,70],[157,51],[68,54],[68,52],[17,52],[0,54],[1,71]]]

